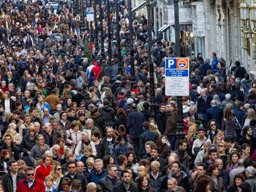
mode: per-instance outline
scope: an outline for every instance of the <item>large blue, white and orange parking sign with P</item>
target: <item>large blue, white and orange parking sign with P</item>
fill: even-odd
[[[189,58],[165,59],[165,94],[189,95]]]

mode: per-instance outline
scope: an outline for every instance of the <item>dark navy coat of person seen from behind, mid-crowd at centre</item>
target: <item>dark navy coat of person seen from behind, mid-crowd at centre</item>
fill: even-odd
[[[129,131],[129,135],[132,136],[132,138],[139,138],[140,134],[143,132],[142,123],[145,122],[145,117],[142,112],[139,112],[137,110],[132,111],[127,116],[127,131]]]

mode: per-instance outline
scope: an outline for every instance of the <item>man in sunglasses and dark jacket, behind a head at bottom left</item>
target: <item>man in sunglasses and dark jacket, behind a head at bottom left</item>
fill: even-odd
[[[69,172],[67,173],[67,175],[64,175],[61,178],[59,183],[62,183],[63,178],[70,178],[70,180],[72,180],[72,181],[75,179],[78,179],[78,180],[80,180],[80,182],[82,184],[81,188],[80,188],[80,192],[85,191],[88,182],[87,182],[87,179],[83,175],[77,173],[77,171],[76,171],[77,164],[75,163],[75,161],[67,162],[67,167],[69,169]],[[58,191],[62,191],[62,185],[59,185]]]

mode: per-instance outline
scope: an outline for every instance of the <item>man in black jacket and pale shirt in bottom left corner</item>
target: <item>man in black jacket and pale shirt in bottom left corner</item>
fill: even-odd
[[[25,175],[23,173],[20,173],[17,161],[11,160],[8,162],[8,166],[10,169],[9,173],[6,173],[2,177],[2,187],[4,188],[4,191],[6,192],[13,192],[16,191],[16,187],[20,180],[25,178]],[[16,184],[14,185],[13,177],[16,179]]]

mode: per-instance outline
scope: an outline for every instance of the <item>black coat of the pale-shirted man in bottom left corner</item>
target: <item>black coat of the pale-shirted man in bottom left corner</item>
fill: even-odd
[[[18,172],[17,178],[16,178],[16,185],[25,178],[25,175],[23,173]],[[4,188],[5,192],[13,192],[14,191],[14,184],[12,183],[12,175],[11,172],[6,173],[4,176],[2,176],[2,187]]]

